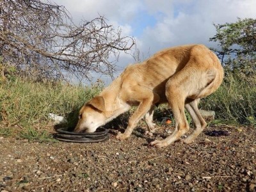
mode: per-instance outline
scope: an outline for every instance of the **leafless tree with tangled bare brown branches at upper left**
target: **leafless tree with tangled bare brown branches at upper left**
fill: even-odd
[[[74,24],[65,7],[50,1],[0,0],[0,55],[26,76],[112,76],[120,51],[135,44],[121,32],[102,16]]]

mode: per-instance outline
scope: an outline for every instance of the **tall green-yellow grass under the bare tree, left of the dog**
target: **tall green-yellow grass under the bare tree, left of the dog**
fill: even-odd
[[[40,83],[18,77],[15,81],[0,84],[0,121],[9,127],[19,125],[38,129],[40,126],[39,129],[44,129],[51,124],[49,113],[54,113],[65,116],[74,124],[74,111],[78,111],[100,89],[99,85],[84,87],[66,83]]]

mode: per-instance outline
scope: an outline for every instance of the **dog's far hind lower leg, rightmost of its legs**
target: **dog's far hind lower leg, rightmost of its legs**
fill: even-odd
[[[202,115],[200,114],[200,111],[198,109],[198,101],[199,99],[193,100],[185,105],[185,108],[187,109],[188,113],[190,114],[193,123],[195,125],[195,129],[187,138],[182,140],[184,143],[192,143],[195,138],[202,132],[206,127],[206,122]]]

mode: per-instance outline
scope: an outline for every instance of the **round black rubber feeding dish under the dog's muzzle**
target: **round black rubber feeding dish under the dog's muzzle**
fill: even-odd
[[[55,138],[60,141],[75,143],[96,143],[108,140],[108,129],[99,127],[95,132],[71,132],[67,128],[57,129]]]

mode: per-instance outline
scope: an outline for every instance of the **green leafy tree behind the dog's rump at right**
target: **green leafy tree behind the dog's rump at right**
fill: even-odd
[[[226,72],[255,73],[256,70],[256,19],[238,19],[234,23],[214,24],[216,35],[210,41],[218,42],[213,49]]]

